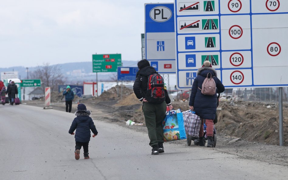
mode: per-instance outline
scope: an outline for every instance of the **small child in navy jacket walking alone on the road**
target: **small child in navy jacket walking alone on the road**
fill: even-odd
[[[77,117],[74,118],[72,125],[69,129],[69,134],[74,134],[75,132],[75,159],[80,158],[80,149],[83,146],[84,150],[84,159],[89,159],[88,145],[91,137],[91,131],[94,133],[92,137],[97,136],[98,131],[94,125],[94,122],[91,117],[90,110],[86,109],[84,104],[78,104],[77,111],[75,112]],[[91,131],[90,131],[91,129]]]

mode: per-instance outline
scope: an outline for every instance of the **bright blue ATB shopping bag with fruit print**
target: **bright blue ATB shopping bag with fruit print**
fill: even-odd
[[[179,111],[178,111],[179,112]],[[186,139],[182,112],[168,111],[163,121],[164,141]]]

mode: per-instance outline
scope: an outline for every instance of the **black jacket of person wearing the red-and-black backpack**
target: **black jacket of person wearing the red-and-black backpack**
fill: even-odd
[[[154,73],[157,73],[157,72],[152,66],[146,66],[137,72],[136,80],[133,85],[133,90],[134,90],[136,97],[140,101],[142,101],[143,98],[147,99],[146,92],[148,89],[148,76]],[[165,102],[169,106],[171,104],[171,100],[169,98],[166,88],[164,88],[164,91],[165,91]]]

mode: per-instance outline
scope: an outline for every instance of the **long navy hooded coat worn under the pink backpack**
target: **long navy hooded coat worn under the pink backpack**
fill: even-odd
[[[201,93],[202,83],[207,77],[207,74],[211,73],[215,84],[216,84],[216,93],[213,96],[204,95]],[[209,75],[210,77],[210,75]],[[200,89],[198,89],[198,87]],[[190,95],[189,106],[194,106],[194,110],[198,116],[202,119],[212,119],[216,117],[217,109],[217,93],[224,92],[225,87],[221,81],[217,78],[217,72],[211,67],[201,67],[197,72],[197,77],[194,79],[192,85],[192,91]]]

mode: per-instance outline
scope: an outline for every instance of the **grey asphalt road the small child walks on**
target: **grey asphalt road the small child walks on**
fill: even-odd
[[[288,179],[285,166],[213,148],[172,142],[164,144],[164,154],[150,155],[146,133],[99,120],[90,159],[81,151],[75,160],[74,136],[68,134],[74,114],[27,105],[1,106],[0,114],[1,180]]]

